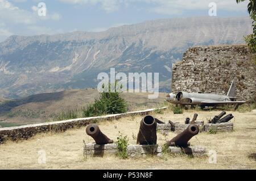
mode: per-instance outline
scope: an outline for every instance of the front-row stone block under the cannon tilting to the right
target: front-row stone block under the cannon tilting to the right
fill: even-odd
[[[176,146],[169,146],[168,152],[171,154],[187,154],[192,156],[205,156],[207,152],[203,146],[188,146],[187,148],[179,148]]]

